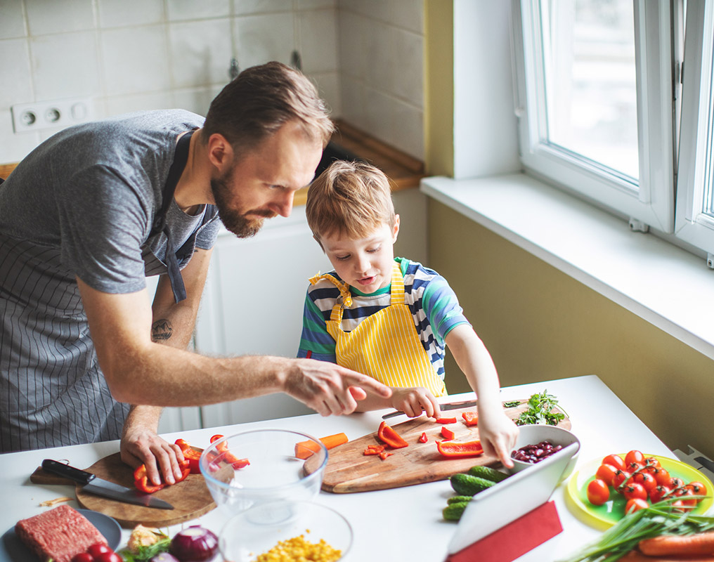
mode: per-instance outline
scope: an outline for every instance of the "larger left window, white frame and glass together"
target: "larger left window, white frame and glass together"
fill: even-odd
[[[674,230],[667,1],[514,3],[521,161],[531,174]]]

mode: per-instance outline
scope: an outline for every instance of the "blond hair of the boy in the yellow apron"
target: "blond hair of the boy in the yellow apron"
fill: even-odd
[[[308,189],[305,211],[318,242],[334,234],[361,240],[395,221],[389,180],[366,162],[333,162]]]

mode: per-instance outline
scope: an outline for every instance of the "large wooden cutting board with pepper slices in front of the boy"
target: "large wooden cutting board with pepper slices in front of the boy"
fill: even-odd
[[[521,406],[506,408],[511,419],[516,419],[528,409],[527,399],[521,400]],[[444,418],[456,418],[456,423],[447,424],[455,433],[454,441],[473,441],[478,439],[478,426],[468,427],[461,414],[476,411],[476,406],[442,412]],[[562,411],[558,410],[562,413]],[[387,421],[388,425],[391,425]],[[448,478],[457,472],[466,472],[476,465],[501,467],[498,459],[481,455],[466,458],[444,458],[436,448],[436,441],[442,441],[441,428],[444,424],[436,423],[433,418],[420,416],[392,426],[408,447],[386,449],[391,453],[384,461],[378,455],[365,456],[362,452],[368,445],[382,444],[374,433],[348,441],[330,449],[328,463],[323,478],[322,489],[333,493],[366,492],[411,486],[424,482],[433,482]],[[558,426],[570,429],[570,419],[565,418]],[[421,433],[426,433],[428,441],[419,443]]]

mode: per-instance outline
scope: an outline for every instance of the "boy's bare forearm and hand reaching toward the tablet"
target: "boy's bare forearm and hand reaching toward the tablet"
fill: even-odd
[[[447,333],[446,345],[478,396],[478,432],[483,451],[511,468],[511,450],[518,427],[503,411],[498,373],[491,354],[468,324],[459,324]]]

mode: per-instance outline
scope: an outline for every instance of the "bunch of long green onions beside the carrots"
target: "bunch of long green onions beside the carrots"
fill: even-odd
[[[672,498],[674,501],[676,498]],[[714,528],[714,518],[673,513],[663,503],[640,509],[624,516],[602,536],[572,558],[561,562],[615,562],[630,552],[640,541],[660,535],[692,535]]]

